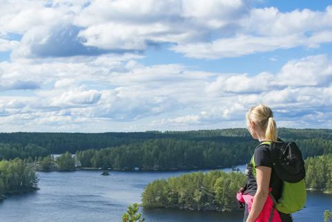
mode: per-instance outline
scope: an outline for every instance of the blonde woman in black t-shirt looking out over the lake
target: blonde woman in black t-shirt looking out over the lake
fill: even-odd
[[[266,221],[262,219],[262,214],[266,214],[266,209],[272,209],[273,201],[269,195],[270,191],[275,200],[282,194],[282,180],[278,178],[271,163],[270,149],[268,142],[277,141],[277,125],[273,119],[273,112],[264,104],[252,107],[246,113],[248,131],[253,138],[259,140],[259,145],[254,152],[253,161],[255,164],[255,174],[253,174],[252,164],[247,165],[247,184],[243,190],[243,195],[251,195],[250,206],[246,201],[244,221]],[[267,206],[271,204],[271,206]],[[291,214],[284,214],[272,209],[275,212],[273,221],[291,222]],[[270,212],[268,212],[270,215]],[[272,216],[271,216],[272,217]],[[265,215],[266,218],[266,215]]]

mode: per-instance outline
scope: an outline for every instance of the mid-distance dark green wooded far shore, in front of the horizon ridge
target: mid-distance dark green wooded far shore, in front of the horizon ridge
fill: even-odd
[[[195,169],[230,167],[250,158],[256,142],[195,142],[155,139],[107,149],[77,151],[80,167],[101,167],[132,170]]]

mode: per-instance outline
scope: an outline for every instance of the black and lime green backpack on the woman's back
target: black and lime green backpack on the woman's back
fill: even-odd
[[[276,201],[271,192],[269,194],[273,199],[275,208],[285,214],[301,210],[306,203],[306,173],[300,149],[295,142],[266,141],[260,145],[269,145],[273,169],[283,181],[282,195],[279,200]],[[255,155],[251,158],[251,164],[253,165],[253,175],[256,177],[254,158]]]

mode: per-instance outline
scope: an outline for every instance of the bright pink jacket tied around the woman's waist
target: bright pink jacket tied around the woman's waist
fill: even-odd
[[[271,189],[270,189],[271,192]],[[248,205],[248,211],[251,211],[251,207],[253,206],[253,196],[249,194],[243,195],[242,192],[237,193],[236,195],[237,201],[242,203],[246,203]],[[260,216],[257,217],[255,222],[282,222],[280,219],[280,215],[277,210],[273,210],[273,201],[270,195],[267,196],[262,212],[260,212]],[[272,220],[270,221],[271,212],[273,212]]]

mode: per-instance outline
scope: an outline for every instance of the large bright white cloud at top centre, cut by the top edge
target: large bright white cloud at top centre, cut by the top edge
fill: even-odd
[[[145,50],[149,42],[206,39],[211,30],[231,30],[246,15],[245,1],[94,1],[75,18],[85,27],[86,46]]]

